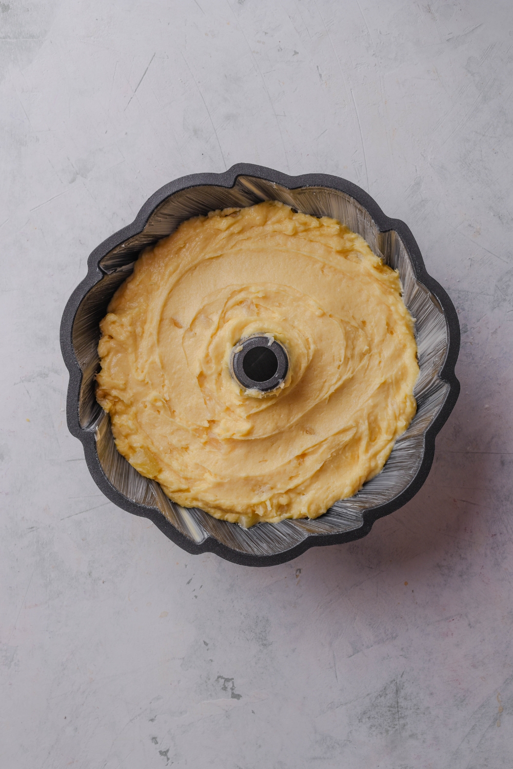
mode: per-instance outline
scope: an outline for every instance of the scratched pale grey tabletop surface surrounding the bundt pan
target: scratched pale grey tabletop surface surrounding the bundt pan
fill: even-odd
[[[510,0],[0,2],[2,767],[511,767],[512,22]],[[58,347],[89,251],[238,161],[365,188],[462,330],[424,488],[268,569],[105,500]]]

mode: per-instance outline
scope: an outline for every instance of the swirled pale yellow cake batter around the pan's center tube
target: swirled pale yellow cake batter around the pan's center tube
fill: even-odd
[[[97,398],[118,450],[215,518],[317,518],[383,468],[415,414],[413,321],[398,274],[334,219],[269,201],[185,221],[148,248],[102,320]],[[285,386],[232,378],[273,335]]]

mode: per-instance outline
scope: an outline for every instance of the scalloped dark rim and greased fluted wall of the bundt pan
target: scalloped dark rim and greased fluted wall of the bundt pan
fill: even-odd
[[[94,377],[99,368],[96,348],[98,323],[142,248],[169,235],[192,216],[268,199],[311,215],[339,219],[399,270],[405,304],[416,320],[421,373],[415,386],[417,414],[376,478],[314,521],[257,524],[245,530],[217,521],[197,508],[181,508],[118,453],[108,414],[95,400]],[[378,518],[397,510],[417,493],[431,468],[435,436],[458,398],[455,364],[459,343],[455,308],[441,285],[426,272],[410,230],[402,221],[385,216],[364,190],[336,176],[287,176],[258,165],[234,165],[224,174],[195,174],[165,185],[145,202],[131,225],[92,251],[88,274],[73,291],[62,315],[62,355],[69,371],[68,427],[82,441],[96,484],[118,507],[149,518],[189,553],[212,551],[237,564],[271,566],[314,546],[364,537]]]

